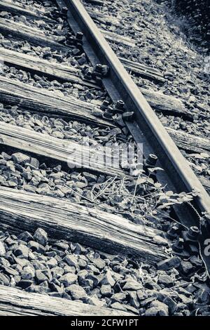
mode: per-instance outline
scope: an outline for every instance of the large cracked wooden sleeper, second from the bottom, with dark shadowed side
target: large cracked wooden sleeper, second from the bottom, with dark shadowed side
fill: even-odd
[[[161,235],[160,230],[67,199],[0,187],[0,216],[1,230],[34,232],[41,227],[49,238],[111,254],[130,254],[151,265],[167,258],[162,246],[153,241]]]

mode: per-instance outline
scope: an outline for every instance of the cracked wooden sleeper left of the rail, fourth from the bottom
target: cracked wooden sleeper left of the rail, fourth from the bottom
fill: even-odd
[[[0,101],[10,105],[18,105],[34,112],[79,119],[97,126],[116,127],[111,121],[96,117],[93,114],[96,106],[92,103],[1,76]]]

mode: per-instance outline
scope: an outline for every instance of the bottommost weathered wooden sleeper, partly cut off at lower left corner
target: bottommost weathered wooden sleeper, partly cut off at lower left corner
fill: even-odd
[[[132,316],[130,312],[97,307],[41,293],[0,285],[0,315],[4,316]]]

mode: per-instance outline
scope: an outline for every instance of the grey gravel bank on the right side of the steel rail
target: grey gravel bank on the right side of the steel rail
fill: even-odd
[[[209,138],[210,101],[209,75],[204,72],[207,53],[195,48],[186,38],[186,22],[174,18],[165,4],[157,1],[104,1],[104,6],[83,3],[95,13],[104,13],[113,18],[113,25],[98,22],[97,25],[136,41],[135,48],[110,43],[113,51],[123,58],[155,67],[164,74],[165,84],[158,84],[141,77],[133,79],[138,86],[160,91],[181,98],[190,110],[193,122],[181,117],[158,114],[164,126],[191,135]],[[118,26],[120,25],[120,26]],[[204,119],[205,117],[205,119]],[[182,151],[197,176],[209,179],[209,157],[207,154],[190,155]]]

